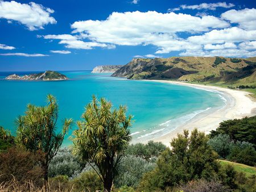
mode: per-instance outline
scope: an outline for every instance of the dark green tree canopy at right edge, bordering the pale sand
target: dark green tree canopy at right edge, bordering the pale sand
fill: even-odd
[[[225,120],[216,131],[210,132],[210,137],[226,134],[234,141],[247,141],[256,147],[256,116],[243,119]]]

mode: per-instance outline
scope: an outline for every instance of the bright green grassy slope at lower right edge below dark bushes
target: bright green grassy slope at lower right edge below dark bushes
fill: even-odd
[[[247,177],[256,174],[256,168],[254,166],[249,166],[245,164],[238,164],[237,162],[226,161],[226,160],[219,160],[221,165],[231,164],[234,166],[234,169],[237,172],[243,172],[246,174]]]

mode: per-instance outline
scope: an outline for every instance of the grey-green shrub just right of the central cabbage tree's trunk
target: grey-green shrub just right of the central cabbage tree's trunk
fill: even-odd
[[[142,157],[125,156],[122,159],[123,163],[120,166],[122,172],[114,180],[115,187],[129,186],[137,187],[144,173],[152,171],[156,164],[148,162]]]

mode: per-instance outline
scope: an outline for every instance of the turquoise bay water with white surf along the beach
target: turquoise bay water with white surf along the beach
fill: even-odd
[[[92,94],[96,94],[98,98],[109,99],[116,107],[126,105],[128,113],[134,115],[135,122],[131,127],[133,139],[143,140],[170,132],[200,112],[220,108],[225,104],[220,93],[190,86],[125,80],[89,71],[61,73],[70,80],[6,81],[3,78],[13,72],[0,72],[0,126],[15,133],[14,120],[24,114],[27,103],[45,105],[46,95],[52,94],[59,101],[61,127],[61,119],[79,120],[84,106],[90,102]],[[68,136],[71,133],[72,130]],[[71,143],[68,136],[64,145]]]

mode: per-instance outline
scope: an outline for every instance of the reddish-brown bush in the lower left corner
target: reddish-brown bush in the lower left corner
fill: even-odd
[[[32,181],[36,186],[42,185],[43,170],[38,165],[40,158],[40,155],[14,147],[0,153],[0,183],[15,178],[20,183]]]

